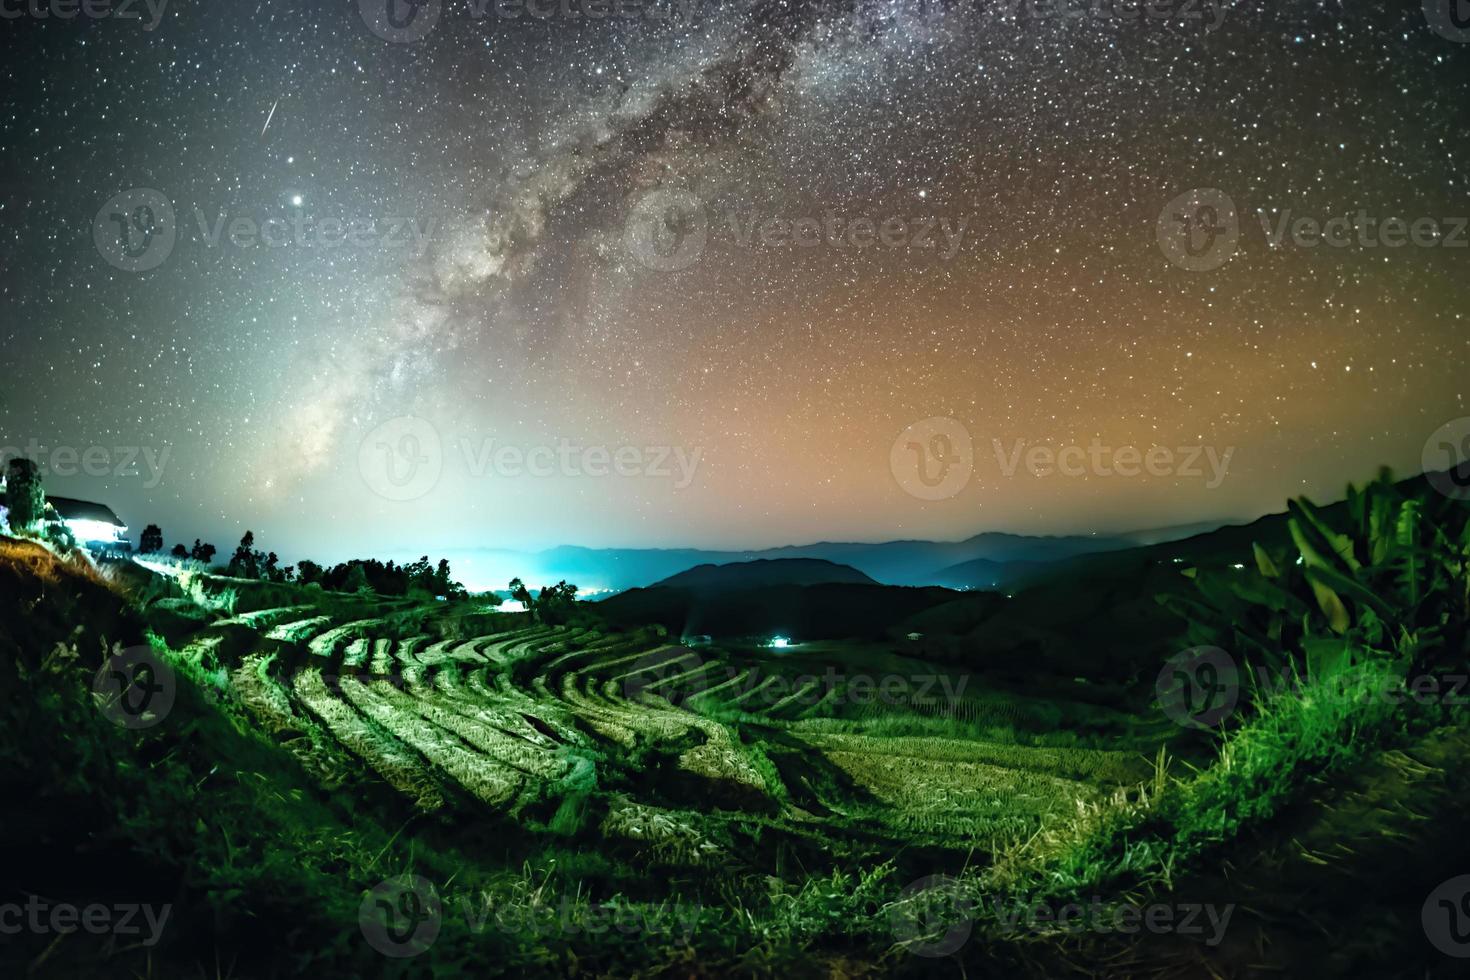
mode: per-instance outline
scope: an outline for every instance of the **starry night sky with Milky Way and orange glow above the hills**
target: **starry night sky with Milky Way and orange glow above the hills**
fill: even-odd
[[[1470,29],[1417,3],[444,0],[419,40],[381,1],[3,9],[0,442],[93,450],[49,489],[171,545],[1161,527],[1419,472],[1470,416],[1470,231],[1273,247],[1255,216],[1455,235]],[[1225,198],[1233,256],[1182,253]],[[1007,476],[995,441],[1230,455]]]

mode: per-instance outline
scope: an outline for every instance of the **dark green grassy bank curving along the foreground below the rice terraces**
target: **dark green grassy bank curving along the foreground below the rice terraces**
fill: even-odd
[[[994,839],[976,840],[973,860],[957,867],[903,852],[816,867],[801,855],[831,846],[839,815],[813,820],[816,848],[801,852],[770,846],[792,827],[769,817],[639,805],[629,790],[657,782],[682,745],[664,752],[670,758],[656,745],[598,758],[601,782],[581,780],[544,810],[526,804],[514,820],[469,802],[465,780],[434,788],[441,813],[415,811],[345,757],[278,743],[204,645],[179,652],[154,638],[176,671],[176,704],[156,729],[116,727],[90,693],[113,638],[65,624],[137,624],[119,611],[97,614],[106,576],[31,552],[24,574],[44,589],[28,607],[34,635],[0,660],[0,689],[10,695],[0,701],[0,823],[13,890],[78,905],[112,895],[169,904],[173,914],[156,948],[21,936],[0,949],[0,965],[16,974],[973,976],[983,965],[1054,976],[1075,937],[1047,926],[1019,933],[1011,909],[1169,893],[1219,867],[1308,788],[1451,720],[1444,708],[1374,696],[1392,676],[1361,664],[1266,698],[1197,771],[1172,771],[1160,754],[1150,779],[1132,780],[1120,755],[997,741],[931,765],[1014,773],[1001,782],[1017,811],[1020,798],[1078,765],[1102,765],[1114,789],[1042,813],[1039,832],[997,823]],[[79,607],[78,597],[97,608]],[[65,616],[37,614],[47,602],[66,602]],[[266,686],[266,667],[251,661],[260,686],[244,692],[290,711]],[[360,736],[370,745],[382,735],[372,726],[397,716],[351,721],[366,726]],[[285,720],[279,730],[300,724]],[[857,768],[869,764],[864,739],[911,739],[923,758],[958,751],[926,739],[961,735],[953,721],[889,732],[810,724],[845,743]],[[766,782],[789,761],[769,758],[770,748],[754,755]],[[335,768],[331,779],[323,768]],[[889,780],[894,793],[913,782],[901,767]],[[648,846],[654,840],[663,843]],[[660,846],[701,862],[709,848],[707,864],[685,860],[670,871],[650,862]],[[916,882],[916,868],[950,877]],[[398,912],[422,911],[425,899],[435,909],[432,934],[415,932],[403,946]]]

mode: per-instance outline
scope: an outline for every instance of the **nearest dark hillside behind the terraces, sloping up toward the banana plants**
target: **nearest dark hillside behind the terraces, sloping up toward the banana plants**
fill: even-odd
[[[1470,473],[1470,467],[1467,467]],[[1402,480],[1407,494],[1421,476]],[[1347,502],[1323,507],[1339,520]],[[659,621],[678,635],[789,635],[797,639],[886,638],[906,652],[1016,677],[1054,673],[1144,685],[1176,648],[1183,623],[1160,595],[1194,594],[1194,569],[1252,566],[1252,544],[1285,550],[1285,513],[1217,527],[1179,541],[1045,563],[961,563],[947,577],[1020,576],[1008,589],[863,585],[745,589],[700,595],[689,589],[634,589],[598,604],[610,621]],[[982,589],[982,585],[967,588]],[[1010,595],[1007,595],[1010,594]],[[673,632],[679,630],[679,632]]]

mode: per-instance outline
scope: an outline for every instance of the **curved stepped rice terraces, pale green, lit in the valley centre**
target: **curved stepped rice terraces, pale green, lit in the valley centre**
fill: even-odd
[[[845,676],[778,657],[491,619],[506,629],[454,635],[431,610],[401,635],[304,605],[220,624],[260,638],[231,669],[240,704],[323,780],[366,773],[425,813],[512,818],[601,790],[601,833],[664,861],[713,860],[711,818],[989,846],[1148,776],[1142,752],[986,739],[980,721],[1026,714],[1001,695],[857,704]],[[885,732],[894,718],[919,732]]]

